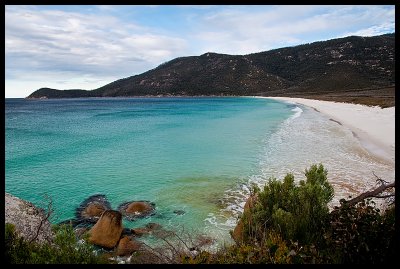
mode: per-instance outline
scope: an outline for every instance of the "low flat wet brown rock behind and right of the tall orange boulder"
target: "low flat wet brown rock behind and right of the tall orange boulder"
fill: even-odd
[[[118,210],[128,220],[143,218],[154,214],[155,204],[149,201],[132,201],[122,203],[118,206]]]

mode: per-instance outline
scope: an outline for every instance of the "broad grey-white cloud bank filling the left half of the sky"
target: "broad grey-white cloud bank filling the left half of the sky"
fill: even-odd
[[[104,10],[104,8],[102,8]],[[144,72],[181,56],[184,39],[117,17],[8,6],[5,13],[6,79],[57,80]],[[43,72],[50,76],[43,77]],[[101,85],[98,85],[101,86]]]

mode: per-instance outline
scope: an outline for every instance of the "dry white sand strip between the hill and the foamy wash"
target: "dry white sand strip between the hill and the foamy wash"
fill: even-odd
[[[395,107],[319,101],[304,98],[266,97],[312,107],[349,128],[371,154],[394,165]]]

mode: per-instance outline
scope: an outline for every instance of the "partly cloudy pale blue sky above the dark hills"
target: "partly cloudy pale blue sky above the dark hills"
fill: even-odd
[[[6,5],[5,97],[92,90],[176,57],[394,32],[394,5]]]

